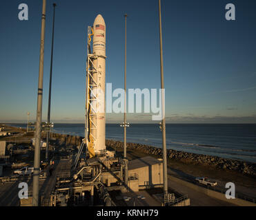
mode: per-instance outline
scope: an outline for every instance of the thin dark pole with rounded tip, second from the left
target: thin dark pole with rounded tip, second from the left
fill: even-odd
[[[52,96],[52,56],[53,56],[53,43],[55,38],[55,7],[56,3],[53,3],[53,21],[52,21],[52,52],[50,58],[50,83],[49,83],[49,97],[48,97],[48,117],[47,117],[47,124],[48,129],[47,137],[46,137],[46,161],[48,161],[48,148],[49,148],[49,136],[50,136],[50,99]]]

